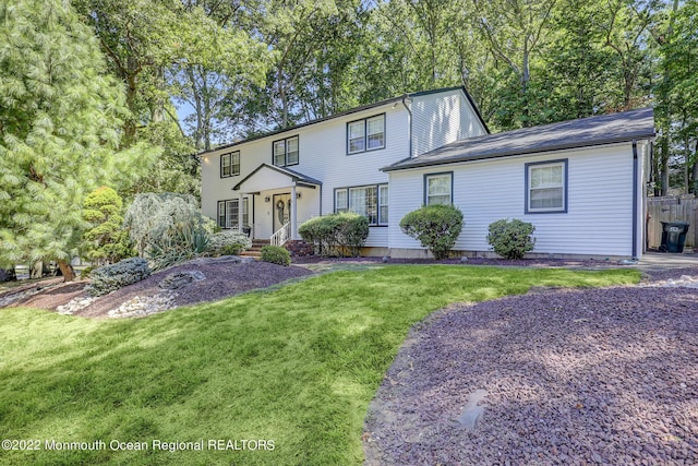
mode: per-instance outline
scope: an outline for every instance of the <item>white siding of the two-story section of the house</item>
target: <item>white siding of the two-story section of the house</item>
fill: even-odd
[[[448,91],[443,93],[434,93],[426,96],[416,97],[416,100],[438,100],[443,98],[450,98],[452,94],[462,94],[460,91]],[[464,97],[465,98],[465,97]],[[429,104],[429,108],[437,109],[447,107],[438,106],[435,104]],[[464,108],[460,108],[460,113],[464,112]],[[467,113],[467,112],[466,112]],[[383,148],[370,151],[366,132],[366,121],[376,118],[383,121]],[[442,117],[446,117],[442,115]],[[476,119],[474,115],[467,116],[470,119]],[[416,116],[414,123],[417,124]],[[421,117],[420,117],[421,118]],[[429,117],[430,121],[437,120],[437,113],[432,113]],[[353,122],[362,122],[364,128],[363,141],[364,150],[347,156],[349,151],[349,126]],[[452,124],[458,124],[458,119],[453,120],[448,117],[444,120],[445,126],[450,128]],[[371,141],[372,144],[381,143],[381,126],[372,126]],[[364,187],[364,186],[386,186],[388,182],[388,174],[381,171],[381,168],[392,165],[398,160],[402,160],[409,156],[409,128],[410,118],[407,109],[398,101],[389,105],[374,107],[365,110],[352,112],[347,116],[337,117],[317,123],[309,124],[305,127],[297,128],[290,131],[273,134],[266,138],[258,138],[236,144],[232,148],[226,147],[216,152],[202,155],[202,212],[216,218],[217,216],[217,201],[230,199],[236,196],[237,192],[231,191],[232,186],[237,182],[231,182],[229,178],[219,177],[219,156],[222,153],[232,151],[240,151],[243,157],[240,158],[240,180],[244,179],[252,171],[257,169],[261,164],[282,165],[287,163],[287,146],[286,141],[289,138],[298,138],[298,156],[291,151],[290,162],[298,159],[297,165],[292,165],[289,168],[293,171],[300,172],[306,177],[314,178],[322,182],[322,187],[315,189],[306,187],[297,187],[297,191],[301,194],[298,200],[298,225],[317,215],[325,215],[335,211],[336,206],[336,189],[337,188],[350,188],[350,187]],[[441,128],[438,124],[431,124],[432,131],[438,132]],[[445,128],[445,127],[444,127]],[[450,130],[448,132],[452,133]],[[394,136],[393,136],[394,135]],[[441,138],[441,136],[438,136]],[[434,141],[440,140],[435,138]],[[300,145],[302,142],[303,156],[300,157]],[[277,152],[275,152],[275,143],[279,143]],[[282,147],[282,151],[281,151]],[[294,148],[291,146],[291,148]],[[277,156],[278,155],[278,156]],[[278,162],[278,164],[277,164]],[[448,169],[450,170],[450,168]],[[431,170],[434,171],[434,170]],[[437,170],[440,171],[440,170]],[[287,176],[279,174],[281,182],[289,182]],[[267,189],[267,186],[274,184],[275,189]],[[423,204],[424,192],[422,189],[423,178],[420,176],[417,184],[412,187],[416,195],[418,196],[418,207]],[[255,238],[269,238],[274,231],[270,225],[270,218],[273,215],[273,199],[274,194],[284,194],[291,192],[290,182],[287,187],[281,187],[274,178],[261,179],[258,186],[252,187],[250,183],[245,184],[246,196],[250,201],[250,222],[254,223],[253,230]],[[393,192],[389,193],[389,206],[382,200],[383,194],[387,191],[378,188],[378,223],[380,226],[388,224],[385,216],[394,218],[392,212],[395,202],[401,200],[396,198]],[[389,191],[393,191],[390,187]],[[341,195],[341,194],[340,194]],[[265,202],[265,198],[269,198],[269,202]],[[348,193],[346,198],[348,208]],[[388,208],[389,207],[389,208]],[[254,208],[254,213],[252,213]],[[386,212],[387,211],[387,212]],[[400,217],[401,218],[401,217]],[[398,225],[400,218],[393,222],[392,225]],[[366,239],[366,247],[388,247],[388,229],[385,227],[371,228],[369,238]]]

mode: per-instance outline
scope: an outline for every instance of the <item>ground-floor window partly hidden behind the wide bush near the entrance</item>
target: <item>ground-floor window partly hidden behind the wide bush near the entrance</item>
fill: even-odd
[[[369,219],[369,225],[388,224],[388,186],[340,188],[335,190],[335,212],[353,212]]]

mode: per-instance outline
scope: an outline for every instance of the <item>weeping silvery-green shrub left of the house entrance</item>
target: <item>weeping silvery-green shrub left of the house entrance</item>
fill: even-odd
[[[137,194],[127,211],[124,226],[153,270],[206,252],[215,228],[192,195],[176,193]]]

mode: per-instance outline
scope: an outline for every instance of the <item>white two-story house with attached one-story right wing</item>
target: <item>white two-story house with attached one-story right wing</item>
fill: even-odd
[[[488,226],[535,226],[533,254],[639,258],[654,136],[651,109],[490,134],[464,87],[407,94],[200,154],[202,210],[282,243],[309,218],[369,218],[365,254],[429,256],[399,222],[454,203],[464,255]]]

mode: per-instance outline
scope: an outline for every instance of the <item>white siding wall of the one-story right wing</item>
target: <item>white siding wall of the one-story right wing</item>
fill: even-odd
[[[567,213],[526,214],[526,164],[562,158],[567,159]],[[464,214],[455,250],[492,251],[486,240],[489,225],[502,218],[518,218],[535,227],[532,253],[602,258],[633,254],[629,143],[454,164],[449,168],[454,171],[453,203]],[[390,172],[390,248],[423,249],[419,241],[402,234],[399,220],[422,205],[423,193],[416,186],[429,174],[428,168]]]

